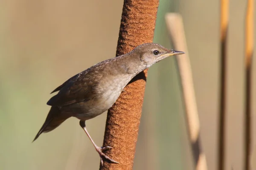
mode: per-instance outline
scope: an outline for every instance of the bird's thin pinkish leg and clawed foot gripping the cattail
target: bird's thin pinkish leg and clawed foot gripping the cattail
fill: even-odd
[[[89,137],[90,141],[93,143],[96,151],[99,153],[99,156],[100,156],[100,162],[101,164],[103,165],[103,160],[102,160],[102,157],[105,157],[105,159],[108,159],[109,161],[113,162],[113,163],[119,163],[113,159],[111,159],[110,157],[106,156],[104,153],[102,153],[102,150],[107,150],[107,149],[112,149],[113,147],[110,147],[110,146],[106,146],[106,147],[98,147],[94,142],[93,142],[93,139],[90,137],[86,127],[85,127],[85,121],[83,120],[80,120],[80,126],[84,129],[84,132],[87,134],[87,136]]]

